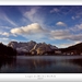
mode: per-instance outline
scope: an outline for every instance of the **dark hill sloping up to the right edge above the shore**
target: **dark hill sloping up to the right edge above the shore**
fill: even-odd
[[[60,49],[61,52],[71,54],[71,55],[82,55],[82,43],[69,46],[67,48]]]

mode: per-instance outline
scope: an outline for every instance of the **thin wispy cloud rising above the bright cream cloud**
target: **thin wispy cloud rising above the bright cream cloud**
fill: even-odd
[[[44,17],[44,14],[42,15],[39,13],[39,11],[40,11],[40,7],[34,7],[34,8],[31,8],[30,11],[25,11],[23,15],[24,17],[30,20],[31,23],[39,23],[44,25],[45,17]]]

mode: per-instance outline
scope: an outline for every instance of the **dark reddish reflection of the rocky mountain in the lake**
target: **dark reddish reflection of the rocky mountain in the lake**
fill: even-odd
[[[46,72],[48,67],[51,67],[52,63],[56,63],[56,60],[47,59],[17,59],[16,65],[20,68],[20,72]]]

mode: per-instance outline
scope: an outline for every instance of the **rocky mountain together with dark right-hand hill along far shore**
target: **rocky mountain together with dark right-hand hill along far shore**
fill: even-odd
[[[68,48],[58,48],[50,44],[33,40],[27,43],[10,42],[7,48],[10,47],[13,50],[15,49],[17,55],[82,55],[82,43],[69,46]]]

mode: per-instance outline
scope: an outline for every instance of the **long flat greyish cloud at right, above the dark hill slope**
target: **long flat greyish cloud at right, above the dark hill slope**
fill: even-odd
[[[69,30],[57,30],[50,32],[51,39],[69,39],[69,40],[82,40],[82,34],[72,34]]]

